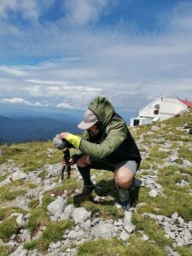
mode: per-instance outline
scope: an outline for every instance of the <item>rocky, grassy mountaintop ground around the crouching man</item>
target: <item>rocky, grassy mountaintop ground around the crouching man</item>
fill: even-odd
[[[154,245],[158,247],[155,255],[192,255],[192,138],[185,126],[180,122],[173,130],[172,123],[164,122],[131,131],[141,148],[143,164],[132,188],[136,204],[128,212],[115,202],[113,193],[102,195],[102,187],[99,195],[94,194],[94,201],[74,207],[71,198],[81,188],[76,166],[71,181],[61,182],[60,163],[26,172],[11,157],[3,160],[0,255],[128,255],[131,246],[135,246],[135,253],[130,255],[152,255]],[[5,151],[0,151],[0,157]],[[54,149],[48,148],[46,154],[51,159]],[[97,184],[102,184],[106,177],[109,183],[113,182],[111,172],[92,172],[92,180]],[[37,212],[39,216],[35,218]],[[15,230],[3,225],[12,219]],[[45,237],[49,226],[50,233],[56,232],[57,224],[65,224],[59,238]],[[131,237],[137,237],[143,247],[148,245],[154,251],[137,252]],[[89,241],[113,239],[120,242],[116,253],[94,254],[89,249],[86,254],[81,253]]]

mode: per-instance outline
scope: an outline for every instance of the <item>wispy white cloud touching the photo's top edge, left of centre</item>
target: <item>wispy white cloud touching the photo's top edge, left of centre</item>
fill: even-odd
[[[64,21],[74,26],[86,26],[98,20],[108,3],[108,0],[66,0]]]

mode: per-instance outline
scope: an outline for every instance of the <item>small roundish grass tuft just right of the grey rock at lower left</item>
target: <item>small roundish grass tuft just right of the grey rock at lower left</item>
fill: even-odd
[[[49,216],[47,212],[45,212],[42,208],[34,209],[31,212],[31,216],[27,224],[27,229],[35,232],[40,226],[45,226],[48,223]]]

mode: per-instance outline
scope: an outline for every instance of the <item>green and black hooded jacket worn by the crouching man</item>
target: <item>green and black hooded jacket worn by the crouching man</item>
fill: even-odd
[[[117,164],[123,160],[141,161],[141,156],[130,131],[107,98],[97,96],[90,102],[89,109],[96,114],[100,123],[100,133],[90,137],[84,131],[79,149],[96,159],[106,160],[109,164]]]

